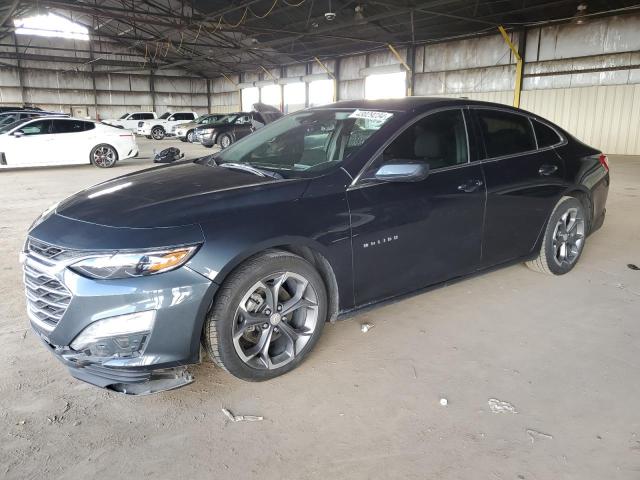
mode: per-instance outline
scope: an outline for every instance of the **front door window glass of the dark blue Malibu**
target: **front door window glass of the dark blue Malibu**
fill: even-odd
[[[382,154],[382,161],[422,161],[430,170],[469,162],[467,130],[462,110],[445,110],[418,120]]]

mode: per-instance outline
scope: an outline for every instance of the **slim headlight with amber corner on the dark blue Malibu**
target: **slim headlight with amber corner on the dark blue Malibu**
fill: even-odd
[[[81,275],[101,280],[141,277],[180,267],[191,258],[197,248],[190,246],[170,250],[115,252],[84,258],[69,268]]]

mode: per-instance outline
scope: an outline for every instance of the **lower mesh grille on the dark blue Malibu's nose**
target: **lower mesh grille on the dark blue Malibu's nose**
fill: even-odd
[[[56,278],[26,262],[24,285],[29,314],[47,326],[55,327],[71,302],[71,292]]]

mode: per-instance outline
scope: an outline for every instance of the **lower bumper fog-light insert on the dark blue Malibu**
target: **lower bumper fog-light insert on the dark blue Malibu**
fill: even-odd
[[[71,342],[71,348],[96,357],[140,354],[151,335],[155,310],[118,315],[93,322]]]

